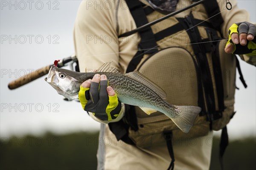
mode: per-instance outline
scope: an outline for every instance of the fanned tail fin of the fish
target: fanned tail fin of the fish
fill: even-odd
[[[201,107],[197,106],[173,106],[178,116],[171,118],[177,127],[184,133],[188,133],[194,124],[195,118],[201,112]]]

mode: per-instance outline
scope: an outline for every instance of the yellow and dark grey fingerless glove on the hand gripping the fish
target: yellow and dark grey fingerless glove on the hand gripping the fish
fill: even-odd
[[[92,112],[96,118],[111,121],[121,112],[122,104],[117,96],[109,96],[108,81],[91,82],[90,88],[80,86],[78,94],[83,109]]]

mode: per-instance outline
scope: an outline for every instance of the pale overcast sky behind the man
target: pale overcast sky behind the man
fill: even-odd
[[[18,89],[8,89],[10,81],[31,69],[74,53],[73,25],[81,1],[20,2],[1,1],[0,137],[99,130],[99,123],[85,114],[79,102],[62,100],[44,81],[46,76]],[[256,21],[255,0],[240,0],[239,6]],[[256,135],[256,67],[243,61],[240,64],[248,87],[244,89],[237,79],[240,90],[236,90],[237,113],[228,125],[230,138]]]

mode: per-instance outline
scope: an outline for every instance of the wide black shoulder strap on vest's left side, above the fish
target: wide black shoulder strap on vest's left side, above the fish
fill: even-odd
[[[125,0],[132,17],[136,23],[137,28],[148,23],[145,11],[143,9],[142,3],[139,0]],[[157,43],[154,38],[151,27],[143,29],[140,33],[140,43],[138,46],[138,52],[134,58],[130,61],[126,72],[132,72],[136,69],[137,65],[140,63],[144,54],[151,54],[157,52]]]

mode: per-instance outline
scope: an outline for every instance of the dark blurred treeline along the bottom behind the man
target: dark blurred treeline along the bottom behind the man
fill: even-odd
[[[42,137],[1,138],[1,170],[95,170],[98,133],[73,133]],[[115,141],[112,141],[115,142]],[[213,138],[211,170],[219,170],[219,138]],[[186,153],[185,153],[186,154]],[[256,169],[256,139],[231,141],[224,155],[225,170]]]

